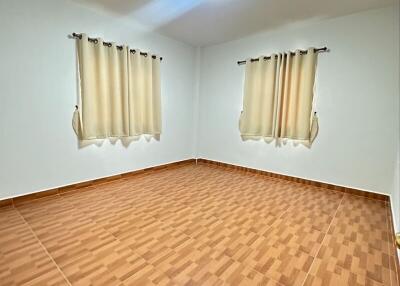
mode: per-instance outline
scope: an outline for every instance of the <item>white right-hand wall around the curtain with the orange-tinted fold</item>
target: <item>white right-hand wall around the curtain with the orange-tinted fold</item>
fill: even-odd
[[[398,147],[392,9],[204,48],[198,157],[392,194]],[[310,46],[331,50],[319,57],[320,132],[312,148],[243,142],[238,119],[244,66],[236,61]]]

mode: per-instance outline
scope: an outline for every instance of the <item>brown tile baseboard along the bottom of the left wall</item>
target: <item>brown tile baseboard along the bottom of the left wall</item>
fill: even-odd
[[[141,169],[141,170],[136,170],[136,171],[132,171],[132,172],[128,172],[128,173],[122,173],[122,174],[118,174],[118,175],[114,175],[114,176],[104,177],[104,178],[100,178],[100,179],[89,180],[89,181],[85,181],[85,182],[81,182],[81,183],[77,183],[77,184],[71,184],[71,185],[67,185],[67,186],[63,186],[63,187],[59,187],[59,188],[54,188],[54,189],[36,192],[36,193],[28,194],[28,195],[18,196],[15,198],[0,200],[0,208],[1,207],[12,207],[12,206],[20,205],[20,204],[23,204],[23,203],[26,203],[26,202],[29,202],[32,200],[36,200],[36,199],[57,196],[57,195],[65,194],[67,192],[80,190],[80,189],[86,188],[86,187],[94,187],[96,185],[103,184],[106,182],[111,182],[114,180],[120,180],[123,178],[131,177],[131,176],[135,176],[135,175],[139,175],[139,174],[145,174],[145,173],[156,171],[156,170],[173,168],[173,167],[184,165],[184,164],[193,164],[194,162],[195,162],[195,159],[188,159],[188,160],[168,163],[168,164],[164,164],[164,165],[159,165],[159,166],[155,166],[155,167],[145,168],[145,169]]]

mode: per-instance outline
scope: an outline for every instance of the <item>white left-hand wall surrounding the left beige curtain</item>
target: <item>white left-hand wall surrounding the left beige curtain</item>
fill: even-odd
[[[163,57],[160,142],[78,148],[72,32]],[[0,199],[193,157],[193,47],[64,0],[0,0],[0,35]]]

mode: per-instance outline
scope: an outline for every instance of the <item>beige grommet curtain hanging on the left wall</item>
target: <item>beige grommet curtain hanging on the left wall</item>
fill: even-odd
[[[159,59],[129,48],[77,40],[79,108],[73,117],[81,140],[161,133]]]

